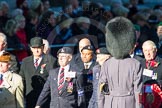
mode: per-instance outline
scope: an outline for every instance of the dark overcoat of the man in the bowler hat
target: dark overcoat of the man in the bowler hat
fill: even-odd
[[[27,108],[35,107],[38,96],[49,75],[49,70],[56,67],[56,59],[51,55],[43,55],[37,68],[34,66],[33,59],[33,56],[23,59],[19,73],[24,80]],[[46,66],[42,68],[44,64]]]

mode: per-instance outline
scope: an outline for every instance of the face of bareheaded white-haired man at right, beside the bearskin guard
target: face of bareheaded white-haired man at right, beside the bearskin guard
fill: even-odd
[[[156,56],[157,49],[153,48],[151,45],[143,46],[143,53],[146,61],[153,60]]]

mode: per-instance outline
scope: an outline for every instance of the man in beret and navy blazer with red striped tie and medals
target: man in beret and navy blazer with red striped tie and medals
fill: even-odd
[[[42,108],[48,95],[51,95],[50,108],[85,108],[83,78],[77,67],[70,65],[71,48],[59,49],[57,56],[60,67],[49,71],[35,108]]]

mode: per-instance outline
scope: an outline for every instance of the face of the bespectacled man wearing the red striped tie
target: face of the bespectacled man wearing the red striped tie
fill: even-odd
[[[72,59],[72,56],[70,54],[65,54],[65,53],[59,53],[57,57],[58,57],[58,63],[61,67],[65,67],[67,64],[69,64],[69,62]]]

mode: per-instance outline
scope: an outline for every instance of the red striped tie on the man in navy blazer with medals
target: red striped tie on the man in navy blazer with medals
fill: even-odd
[[[58,82],[59,94],[61,94],[63,86],[64,86],[64,68],[61,68],[61,72],[59,74],[59,82]]]

